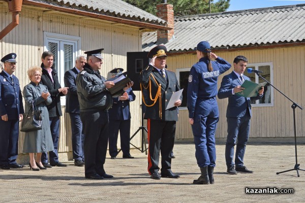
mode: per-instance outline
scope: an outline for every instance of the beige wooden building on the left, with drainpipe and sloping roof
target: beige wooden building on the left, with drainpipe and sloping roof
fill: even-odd
[[[116,67],[127,70],[127,52],[141,51],[143,31],[169,29],[166,21],[121,0],[23,0],[21,12],[13,12],[13,15],[9,12],[8,1],[0,0],[0,31],[16,20],[16,13],[19,24],[2,36],[0,50],[1,56],[17,54],[14,74],[19,78],[21,89],[29,83],[27,69],[40,65],[41,55],[46,50],[54,54],[54,66],[64,86],[64,73],[73,68],[77,55],[104,48],[101,75],[106,77]],[[141,126],[141,96],[139,91],[135,93],[137,99],[131,103],[131,133]],[[64,97],[61,104],[64,113]],[[21,132],[20,153],[23,138]],[[66,113],[60,118],[59,139],[58,151],[72,152],[70,117]],[[132,144],[141,145],[140,134]]]

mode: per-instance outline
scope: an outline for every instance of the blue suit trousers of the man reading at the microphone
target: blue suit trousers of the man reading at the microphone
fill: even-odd
[[[234,165],[236,168],[243,166],[243,156],[245,155],[246,144],[249,139],[250,118],[251,117],[248,115],[248,113],[240,118],[227,118],[228,136],[225,156],[228,168]],[[234,163],[233,157],[235,144],[236,154]]]

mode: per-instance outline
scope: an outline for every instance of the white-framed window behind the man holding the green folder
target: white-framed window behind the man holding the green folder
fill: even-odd
[[[272,84],[273,80],[273,66],[272,63],[250,63],[247,65],[247,68],[253,70],[262,71],[260,75],[265,78],[268,82]],[[252,82],[263,83],[265,82],[262,78],[257,76],[255,73],[245,72],[245,75],[248,76]],[[264,95],[262,98],[256,101],[252,101],[252,106],[273,106],[273,88],[270,84],[264,86]]]

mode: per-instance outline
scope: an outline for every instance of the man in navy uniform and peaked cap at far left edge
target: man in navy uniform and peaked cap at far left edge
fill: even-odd
[[[24,113],[19,80],[16,70],[16,54],[1,59],[4,69],[0,73],[0,167],[4,170],[22,168],[16,162],[18,155],[19,122]]]

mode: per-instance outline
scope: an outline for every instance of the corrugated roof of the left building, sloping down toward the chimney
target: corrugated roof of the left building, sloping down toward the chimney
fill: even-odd
[[[166,25],[166,21],[121,0],[32,0],[57,6],[76,8],[92,13]]]

